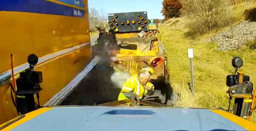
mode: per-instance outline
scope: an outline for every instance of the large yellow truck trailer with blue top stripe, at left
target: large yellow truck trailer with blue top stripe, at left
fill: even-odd
[[[1,0],[0,19],[2,124],[17,116],[11,99],[11,54],[15,80],[29,67],[29,54],[39,57],[35,71],[43,73],[43,105],[91,61],[91,47],[87,0]]]

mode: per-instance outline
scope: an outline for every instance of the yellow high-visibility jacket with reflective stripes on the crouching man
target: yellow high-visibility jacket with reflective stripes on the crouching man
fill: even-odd
[[[139,81],[138,74],[134,74],[133,76],[129,77],[123,84],[121,92],[118,96],[119,101],[129,99],[123,94],[123,92],[133,92],[134,94],[138,95],[139,98],[142,98],[147,93],[146,89],[144,89]]]

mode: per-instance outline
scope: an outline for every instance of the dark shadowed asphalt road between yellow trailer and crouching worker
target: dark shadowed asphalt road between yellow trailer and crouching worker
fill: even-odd
[[[97,36],[91,37],[91,48],[94,52]],[[75,87],[74,91],[61,103],[62,106],[97,105],[117,101],[120,88],[111,82],[113,67],[98,63]]]

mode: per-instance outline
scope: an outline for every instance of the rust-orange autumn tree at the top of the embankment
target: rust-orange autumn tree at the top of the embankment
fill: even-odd
[[[163,0],[162,4],[163,8],[161,13],[165,16],[165,19],[179,17],[181,15],[181,0]]]

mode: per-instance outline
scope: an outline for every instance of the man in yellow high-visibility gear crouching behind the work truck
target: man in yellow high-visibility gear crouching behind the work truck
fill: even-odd
[[[150,82],[150,76],[154,70],[150,67],[143,68],[139,73],[129,77],[123,84],[118,100],[125,100],[134,97],[136,94],[140,99],[145,97],[148,91],[154,90],[154,85]]]

